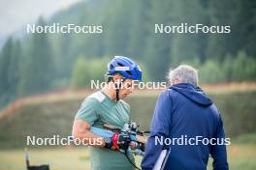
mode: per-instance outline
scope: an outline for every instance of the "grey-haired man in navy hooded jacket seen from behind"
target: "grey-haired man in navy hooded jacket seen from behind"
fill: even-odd
[[[170,89],[157,99],[142,168],[206,170],[210,155],[214,170],[229,169],[229,139],[215,104],[198,87],[198,71],[180,65],[169,78]]]

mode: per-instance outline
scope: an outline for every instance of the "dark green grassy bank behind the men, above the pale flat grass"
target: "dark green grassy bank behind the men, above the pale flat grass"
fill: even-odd
[[[256,91],[228,94],[211,94],[221,112],[228,137],[255,132]],[[126,99],[131,105],[131,120],[150,126],[157,96],[141,95]],[[5,119],[0,119],[0,148],[22,148],[26,136],[50,137],[71,134],[72,124],[82,99],[31,102],[14,110]]]

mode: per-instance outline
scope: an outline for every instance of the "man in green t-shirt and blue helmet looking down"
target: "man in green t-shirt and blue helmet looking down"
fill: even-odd
[[[142,80],[142,71],[131,59],[115,56],[108,65],[107,84],[81,103],[74,121],[73,136],[89,145],[91,170],[132,170],[134,166],[118,149],[127,149],[127,136],[114,134],[104,138],[90,132],[91,127],[111,124],[122,128],[129,121],[130,106],[124,100],[134,90],[134,81]],[[129,155],[134,161],[134,157]]]

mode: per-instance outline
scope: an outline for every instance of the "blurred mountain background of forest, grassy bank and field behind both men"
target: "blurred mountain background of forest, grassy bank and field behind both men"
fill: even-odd
[[[222,114],[231,169],[256,169],[256,1],[1,0],[0,170],[25,169],[26,136],[71,134],[91,80],[104,81],[114,55],[139,62],[144,82],[167,81],[190,64]],[[101,34],[27,34],[26,25],[102,25]],[[155,34],[155,24],[229,25],[229,34]],[[94,90],[95,91],[95,90]],[[149,128],[161,90],[126,99]],[[146,104],[145,104],[146,103]],[[34,164],[89,169],[84,147],[30,147]],[[138,160],[139,161],[139,160]],[[211,161],[211,160],[210,160]],[[209,166],[210,167],[210,166]]]

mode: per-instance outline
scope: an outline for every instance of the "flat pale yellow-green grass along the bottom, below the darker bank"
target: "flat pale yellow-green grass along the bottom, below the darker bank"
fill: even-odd
[[[228,147],[231,170],[256,169],[256,145],[232,144]],[[87,170],[89,156],[86,148],[47,148],[29,150],[32,164],[50,165],[51,170]],[[138,157],[137,163],[140,162]],[[211,160],[208,169],[212,169]],[[25,170],[24,151],[0,150],[0,170]]]

